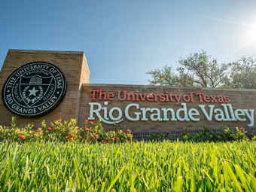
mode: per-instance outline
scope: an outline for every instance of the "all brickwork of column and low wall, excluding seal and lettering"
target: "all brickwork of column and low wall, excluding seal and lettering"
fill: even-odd
[[[203,114],[202,109],[198,105],[205,105],[206,112],[209,114],[209,105],[215,105],[215,108],[220,108],[223,111],[223,106],[221,104],[231,104],[233,110],[235,109],[255,109],[256,108],[256,91],[255,90],[235,90],[235,89],[219,89],[219,88],[181,88],[181,87],[160,87],[160,86],[142,86],[142,85],[119,85],[119,84],[89,84],[90,70],[87,66],[87,61],[84,56],[84,52],[69,52],[69,51],[45,51],[45,50],[9,50],[5,59],[4,66],[0,72],[0,91],[2,92],[2,86],[5,83],[5,80],[11,75],[11,72],[14,72],[20,66],[25,65],[29,62],[50,62],[53,65],[57,66],[66,77],[67,81],[67,92],[66,96],[63,99],[62,103],[49,114],[44,115],[43,117],[38,118],[24,118],[12,114],[5,108],[3,105],[2,99],[0,99],[0,125],[10,126],[11,117],[17,117],[17,126],[24,126],[28,123],[33,123],[35,127],[39,127],[42,120],[46,120],[46,123],[49,124],[50,121],[62,119],[70,120],[71,118],[77,119],[78,126],[84,126],[84,120],[87,120],[90,117],[90,105],[91,102],[99,103],[107,113],[104,114],[104,110],[99,111],[99,114],[102,117],[109,118],[109,111],[111,108],[117,107],[122,111],[122,116],[120,123],[117,123],[117,127],[123,127],[123,130],[132,130],[138,137],[148,136],[150,132],[162,132],[166,130],[172,131],[172,135],[176,136],[181,133],[181,130],[184,130],[184,127],[188,127],[188,130],[191,133],[197,133],[200,127],[207,126],[209,129],[218,129],[220,125],[227,126],[230,128],[244,127],[250,123],[247,117],[245,121],[233,120],[233,121],[217,121],[214,119],[215,113],[212,115],[212,120],[206,120],[205,115]],[[102,92],[113,93],[109,95],[110,99],[105,99],[105,94],[102,94],[102,99],[99,99],[99,93],[95,94],[95,99],[93,99],[93,93],[90,93],[90,90],[102,90]],[[136,93],[143,94],[166,94],[166,92],[172,93],[172,95],[181,95],[180,102],[177,103],[171,101],[160,101],[160,97],[157,96],[158,101],[148,101],[145,98],[144,101],[141,99],[132,101],[125,100],[120,101],[118,99],[118,92],[120,91],[120,97],[123,98],[123,91],[127,93],[133,93],[136,96]],[[194,92],[194,102],[185,102],[183,99],[184,95],[190,95],[191,92]],[[203,93],[208,96],[228,96],[230,102],[207,102],[211,101],[210,97],[206,97],[206,101],[200,102],[200,97],[195,96],[195,93]],[[174,96],[172,96],[174,99]],[[132,96],[131,96],[132,99]],[[186,98],[185,98],[186,99]],[[150,98],[149,100],[152,100]],[[154,100],[154,95],[153,95]],[[105,102],[108,102],[106,105]],[[172,108],[175,112],[179,108],[183,108],[184,103],[186,103],[187,111],[191,108],[196,108],[199,111],[200,115],[194,116],[199,117],[199,121],[194,120],[162,120],[162,121],[153,121],[150,119],[151,114],[155,112],[147,111],[145,117],[148,120],[138,120],[132,121],[128,120],[125,116],[125,109],[127,105],[132,103],[139,104],[139,108],[132,107],[130,108],[129,114],[130,117],[136,117],[134,113],[142,112],[140,108],[158,108],[160,109],[160,117],[163,118],[163,111],[161,108]],[[175,105],[175,103],[177,105]],[[182,105],[181,105],[182,104]],[[97,106],[94,107],[96,109]],[[215,109],[214,108],[214,109]],[[254,113],[253,113],[254,114]],[[231,115],[231,114],[229,114]],[[113,117],[117,117],[117,110],[113,111]],[[93,115],[96,122],[99,118],[96,114]],[[184,117],[183,112],[181,112],[181,117]],[[171,116],[168,113],[168,118]],[[139,119],[142,119],[142,114],[139,116]],[[255,122],[255,117],[253,117]],[[108,121],[113,121],[108,119]],[[112,124],[102,123],[105,130],[113,130],[114,126]],[[254,127],[254,125],[253,125]],[[254,128],[251,131],[254,132]]]

